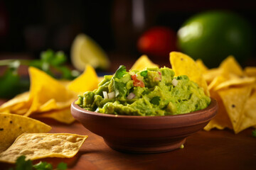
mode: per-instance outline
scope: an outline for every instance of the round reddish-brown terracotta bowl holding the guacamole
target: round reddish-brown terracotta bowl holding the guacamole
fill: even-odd
[[[121,152],[156,153],[178,149],[186,137],[203,129],[216,115],[218,104],[211,98],[208,108],[183,115],[134,116],[85,111],[72,103],[71,113],[106,144]]]

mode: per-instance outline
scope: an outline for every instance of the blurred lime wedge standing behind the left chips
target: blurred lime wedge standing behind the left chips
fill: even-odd
[[[94,68],[108,69],[110,60],[104,50],[92,38],[81,33],[76,36],[71,47],[71,62],[81,72],[86,64]]]

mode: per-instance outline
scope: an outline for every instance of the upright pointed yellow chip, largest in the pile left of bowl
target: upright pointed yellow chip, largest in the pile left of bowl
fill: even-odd
[[[66,89],[65,86],[45,72],[34,67],[29,67],[28,70],[31,79],[29,94],[31,107],[25,114],[26,116],[38,111],[48,111],[46,108],[65,108],[70,106],[70,104],[75,101],[75,98],[77,98],[77,95],[73,91]],[[46,108],[42,108],[42,106],[45,106]],[[53,108],[53,106],[55,106],[55,108]]]

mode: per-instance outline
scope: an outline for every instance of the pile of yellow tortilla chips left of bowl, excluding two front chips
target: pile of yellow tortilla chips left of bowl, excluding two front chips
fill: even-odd
[[[62,123],[73,123],[70,105],[85,91],[97,88],[95,69],[89,65],[80,77],[70,82],[53,79],[45,72],[29,68],[30,91],[20,94],[0,106],[0,113],[13,113],[35,118],[53,118]]]

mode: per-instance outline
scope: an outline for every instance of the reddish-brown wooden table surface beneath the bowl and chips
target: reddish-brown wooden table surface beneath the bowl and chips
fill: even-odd
[[[69,169],[256,169],[256,138],[252,137],[252,129],[238,135],[230,130],[201,130],[187,138],[183,149],[159,154],[127,154],[110,149],[102,137],[78,122],[65,125],[50,119],[41,121],[53,128],[50,132],[89,136],[73,158],[41,159],[54,166],[66,162]],[[9,166],[1,163],[0,169]]]

